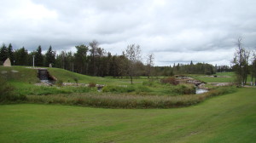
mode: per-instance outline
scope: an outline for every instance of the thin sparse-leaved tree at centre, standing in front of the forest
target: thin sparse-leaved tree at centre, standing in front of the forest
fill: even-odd
[[[136,63],[141,58],[141,48],[140,45],[135,46],[135,44],[128,45],[125,49],[125,56],[129,60],[128,62],[128,74],[131,78],[132,84],[132,77],[135,76],[136,71]]]

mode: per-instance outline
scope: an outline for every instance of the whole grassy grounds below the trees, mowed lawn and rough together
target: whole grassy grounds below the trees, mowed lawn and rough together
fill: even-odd
[[[170,94],[171,90],[160,90],[167,88],[174,92],[177,88],[156,82],[149,86],[148,79],[143,77],[135,79],[137,83],[130,87],[129,79],[125,78],[90,77],[49,68],[52,75],[64,82],[78,78],[79,83],[108,84],[108,90],[104,87],[98,92],[94,87],[36,86],[36,70],[24,66],[2,66],[1,70],[5,71],[4,85],[15,88],[13,93],[18,100],[2,100],[0,142],[253,143],[256,140],[255,88],[212,87],[205,94]],[[230,78],[224,77],[221,82],[231,80],[233,74],[226,74]],[[218,78],[210,80],[218,82]],[[131,91],[113,90],[114,85],[121,83]],[[180,88],[185,87],[189,88]]]

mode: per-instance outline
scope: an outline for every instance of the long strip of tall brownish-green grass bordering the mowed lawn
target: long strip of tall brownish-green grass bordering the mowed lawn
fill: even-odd
[[[222,87],[205,94],[148,95],[148,94],[52,94],[28,95],[26,102],[41,104],[61,104],[75,106],[94,106],[104,108],[173,108],[192,106],[210,97],[236,92],[235,87]]]

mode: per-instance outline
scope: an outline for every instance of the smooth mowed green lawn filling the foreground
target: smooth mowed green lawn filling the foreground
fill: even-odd
[[[102,109],[0,106],[0,142],[241,142],[256,140],[256,89],[197,106]]]

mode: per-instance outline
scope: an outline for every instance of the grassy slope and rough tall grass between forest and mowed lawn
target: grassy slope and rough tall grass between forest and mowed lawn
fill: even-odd
[[[96,88],[90,87],[44,87],[35,86],[38,83],[37,71],[24,66],[1,67],[3,78],[15,86],[13,99],[29,103],[64,104],[79,106],[97,106],[110,108],[170,108],[195,105],[209,97],[234,92],[234,88],[215,89],[207,94],[192,95],[195,87],[189,84],[171,85],[162,84],[159,79],[151,81],[139,78],[140,82],[134,85],[129,79],[110,79],[90,77],[78,73],[67,72],[62,69],[49,68],[49,73],[63,82],[71,82],[76,78],[79,83],[108,83],[108,86],[98,93]],[[15,71],[15,72],[14,72]],[[126,80],[126,82],[124,82]],[[118,85],[124,85],[118,86]],[[26,98],[24,98],[24,96]],[[14,96],[15,97],[15,96]],[[4,99],[3,99],[4,101]]]

